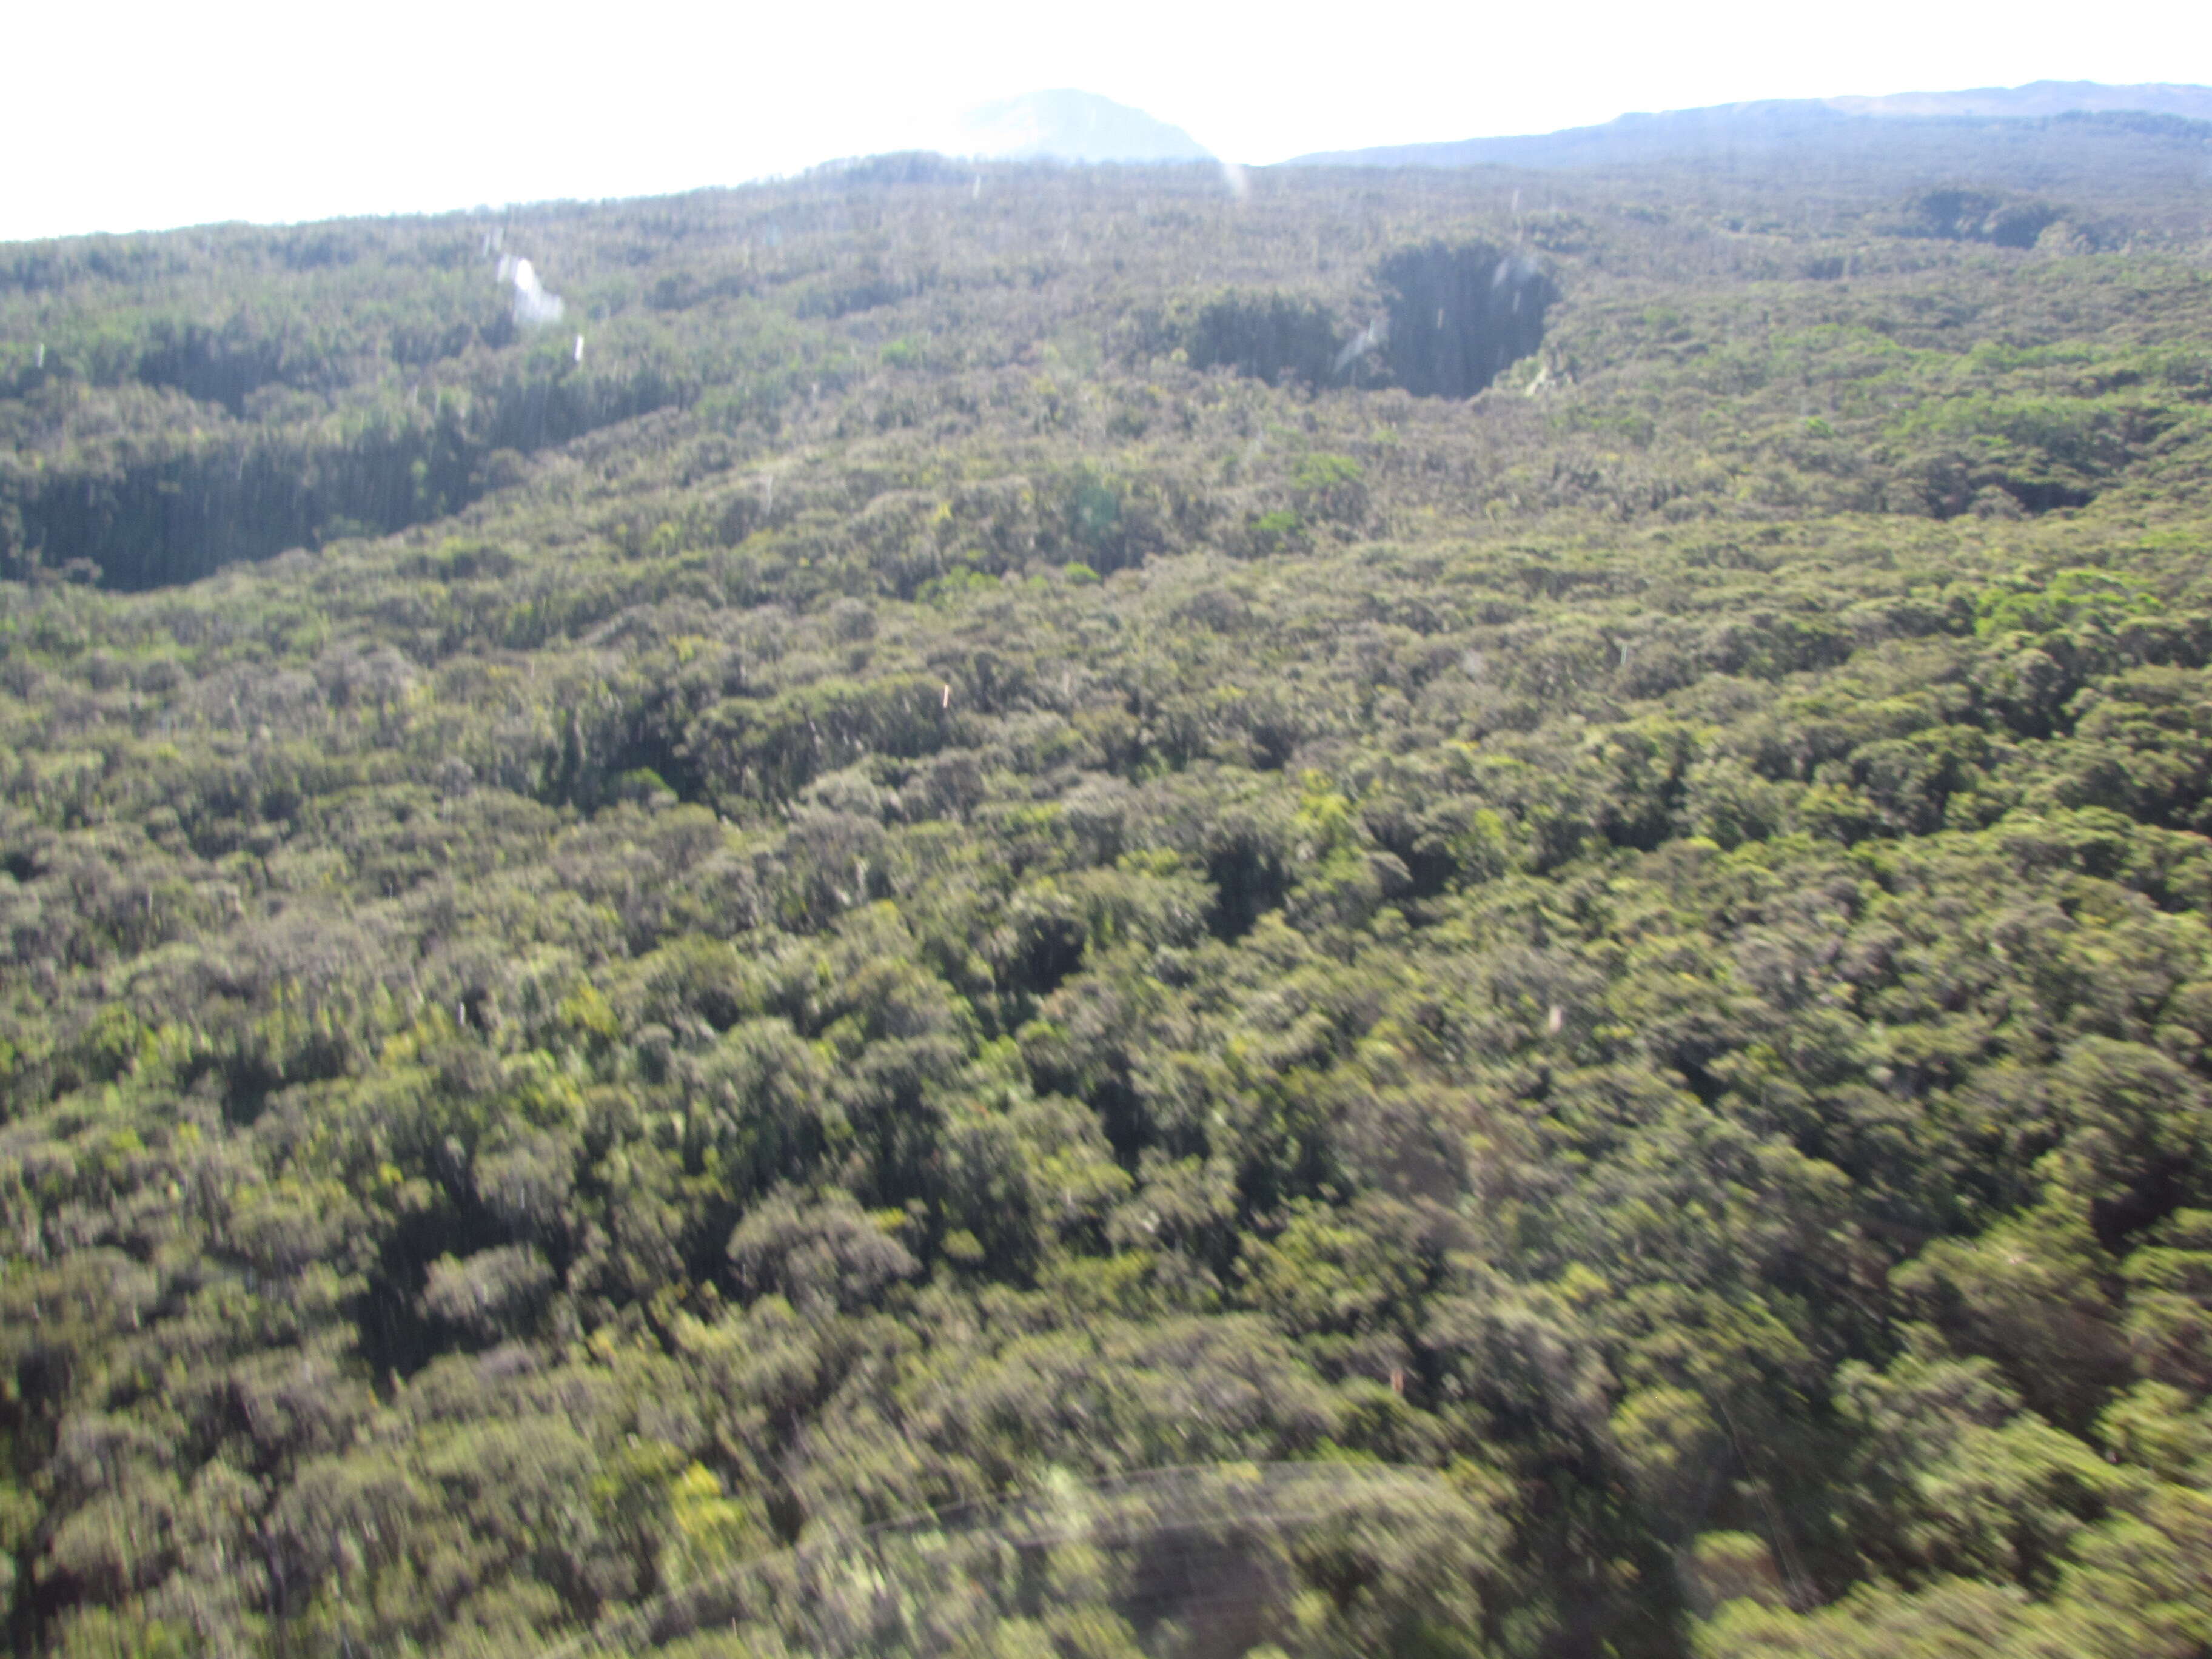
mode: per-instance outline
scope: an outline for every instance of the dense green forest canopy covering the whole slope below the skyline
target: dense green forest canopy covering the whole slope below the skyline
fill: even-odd
[[[0,248],[13,1650],[2212,1652],[2073,137]]]

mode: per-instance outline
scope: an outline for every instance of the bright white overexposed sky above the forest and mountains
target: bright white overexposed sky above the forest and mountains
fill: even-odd
[[[11,0],[0,239],[737,184],[1079,86],[1219,155],[2028,80],[2212,82],[2212,9],[2024,0]]]

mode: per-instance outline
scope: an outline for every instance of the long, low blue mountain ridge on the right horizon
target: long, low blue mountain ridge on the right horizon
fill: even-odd
[[[1911,128],[2028,126],[2068,115],[2119,117],[2126,113],[2212,124],[2212,86],[2101,86],[2097,82],[2046,80],[2028,86],[1984,86],[1958,93],[1781,97],[1635,113],[1601,126],[1571,126],[1557,133],[1323,150],[1292,157],[1285,166],[1632,166],[1723,153],[1887,146]],[[2205,126],[2203,137],[2212,137],[2212,126]]]

